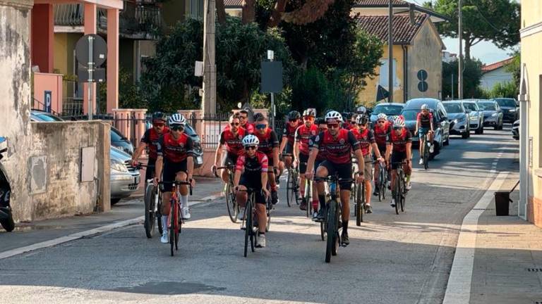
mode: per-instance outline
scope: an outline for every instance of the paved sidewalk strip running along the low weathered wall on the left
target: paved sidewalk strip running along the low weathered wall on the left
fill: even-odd
[[[193,196],[189,198],[191,204],[212,201],[221,195],[222,183],[220,179],[198,177],[196,183]],[[6,253],[16,248],[32,246],[36,243],[66,238],[68,236],[69,239],[80,239],[85,237],[84,232],[92,229],[104,228],[107,231],[107,229],[110,230],[130,224],[143,223],[143,215],[143,190],[141,190],[137,191],[130,198],[126,198],[113,205],[112,210],[107,213],[93,213],[60,219],[18,223],[13,232],[8,233],[0,229],[0,256],[1,253]],[[92,234],[92,232],[90,233]]]

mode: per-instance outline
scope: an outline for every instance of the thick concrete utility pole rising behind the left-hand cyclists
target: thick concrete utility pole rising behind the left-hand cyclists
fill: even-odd
[[[217,113],[217,65],[215,63],[215,0],[203,6],[203,117]]]

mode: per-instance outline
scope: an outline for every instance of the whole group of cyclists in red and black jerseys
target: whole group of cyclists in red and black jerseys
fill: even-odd
[[[388,188],[395,189],[395,170],[403,165],[406,175],[406,189],[411,189],[411,142],[412,134],[405,127],[404,118],[399,115],[388,120],[380,113],[375,125],[371,127],[369,118],[364,113],[354,114],[350,120],[335,110],[329,110],[322,118],[317,118],[316,110],[308,108],[303,115],[292,110],[287,115],[287,122],[282,131],[282,141],[269,126],[263,115],[248,122],[248,111],[240,110],[229,117],[228,125],[220,133],[219,144],[215,152],[213,172],[224,162],[220,176],[224,183],[229,182],[228,170],[234,171],[234,191],[236,201],[244,208],[248,199],[247,189],[255,191],[255,217],[258,222],[257,247],[267,246],[265,238],[266,201],[270,196],[272,205],[278,203],[277,182],[284,170],[296,168],[299,171],[299,207],[301,210],[312,204],[313,220],[321,222],[325,218],[326,193],[324,182],[313,182],[312,201],[306,201],[305,183],[307,179],[325,179],[338,176],[339,198],[342,202],[342,215],[349,215],[349,200],[352,183],[365,184],[365,213],[372,213],[371,191],[379,176],[380,165],[385,163],[391,170]],[[167,122],[167,125],[166,125]],[[174,180],[188,181],[195,186],[193,179],[195,153],[193,141],[183,130],[186,118],[174,114],[167,118],[164,113],[152,115],[152,128],[148,129],[140,145],[133,154],[133,163],[145,150],[148,151],[148,163],[145,179],[153,179],[155,185],[164,182],[162,194],[162,227],[167,227],[171,184]],[[426,105],[418,115],[416,132],[420,139],[433,132],[433,120]],[[222,156],[225,149],[226,155]],[[355,160],[353,162],[353,160]],[[373,165],[374,164],[374,165]],[[150,169],[154,166],[154,170]],[[374,175],[373,175],[374,167]],[[354,172],[356,170],[356,172]],[[184,220],[191,217],[188,204],[188,185],[180,186],[181,216]],[[375,187],[373,195],[378,196]],[[395,207],[395,195],[390,205]],[[239,212],[239,219],[245,215]],[[342,246],[349,245],[349,216],[342,217]],[[163,229],[162,243],[168,243],[168,229]]]

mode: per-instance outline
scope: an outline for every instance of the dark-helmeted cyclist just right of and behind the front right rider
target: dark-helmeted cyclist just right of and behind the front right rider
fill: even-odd
[[[356,117],[356,125],[354,129],[351,129],[354,137],[359,141],[361,147],[361,153],[363,154],[363,182],[365,183],[365,212],[373,213],[373,208],[371,207],[371,182],[373,181],[373,170],[371,165],[367,163],[373,162],[373,157],[371,156],[371,148],[375,152],[375,156],[378,161],[383,161],[382,155],[376,145],[375,134],[372,129],[369,129],[367,123],[369,118],[366,115],[358,115]]]

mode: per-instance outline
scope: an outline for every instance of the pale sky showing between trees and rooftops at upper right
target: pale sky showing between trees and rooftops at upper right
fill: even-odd
[[[406,0],[408,2],[418,4],[421,6],[426,0]],[[442,42],[446,46],[446,51],[450,53],[459,54],[459,40],[457,38],[452,39],[448,37],[442,37]],[[509,58],[509,54],[512,53],[512,49],[499,49],[498,46],[492,42],[479,42],[475,46],[471,47],[471,57],[480,59],[482,63],[495,63]]]

